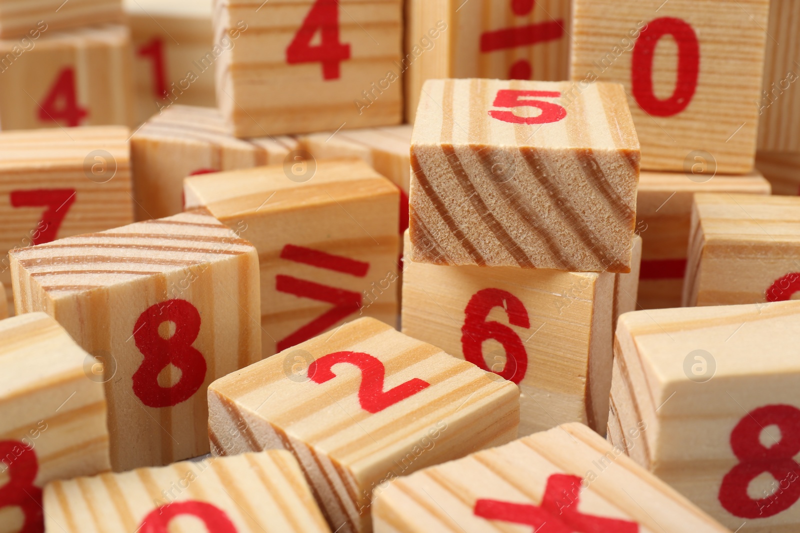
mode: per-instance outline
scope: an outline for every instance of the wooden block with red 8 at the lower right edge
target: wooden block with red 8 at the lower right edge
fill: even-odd
[[[798,317],[800,302],[623,315],[610,442],[730,531],[797,531]]]

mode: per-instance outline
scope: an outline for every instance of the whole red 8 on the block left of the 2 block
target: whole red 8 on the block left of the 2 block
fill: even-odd
[[[158,333],[164,322],[175,324],[168,340]],[[200,313],[186,300],[167,300],[143,312],[134,326],[136,348],[145,360],[134,372],[134,393],[151,408],[180,404],[198,392],[206,380],[206,359],[192,346],[200,332]],[[158,384],[158,374],[169,364],[181,370],[181,379],[170,388]]]

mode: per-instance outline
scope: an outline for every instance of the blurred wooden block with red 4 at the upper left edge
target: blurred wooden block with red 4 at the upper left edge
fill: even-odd
[[[0,41],[2,129],[131,124],[125,26],[59,33],[44,24],[36,33],[38,38]]]

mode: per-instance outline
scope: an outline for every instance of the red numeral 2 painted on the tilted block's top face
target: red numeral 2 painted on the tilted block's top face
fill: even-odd
[[[377,357],[368,353],[335,352],[320,357],[308,366],[308,376],[314,383],[326,383],[336,374],[331,370],[334,364],[352,364],[361,369],[361,387],[358,388],[358,402],[364,411],[376,413],[414,396],[430,386],[427,381],[414,378],[383,392],[386,367]]]

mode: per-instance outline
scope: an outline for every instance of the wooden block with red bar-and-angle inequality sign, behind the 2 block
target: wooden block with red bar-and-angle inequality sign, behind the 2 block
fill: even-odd
[[[208,209],[258,250],[265,357],[358,316],[397,321],[398,188],[357,159],[304,172],[186,180],[187,207]]]

